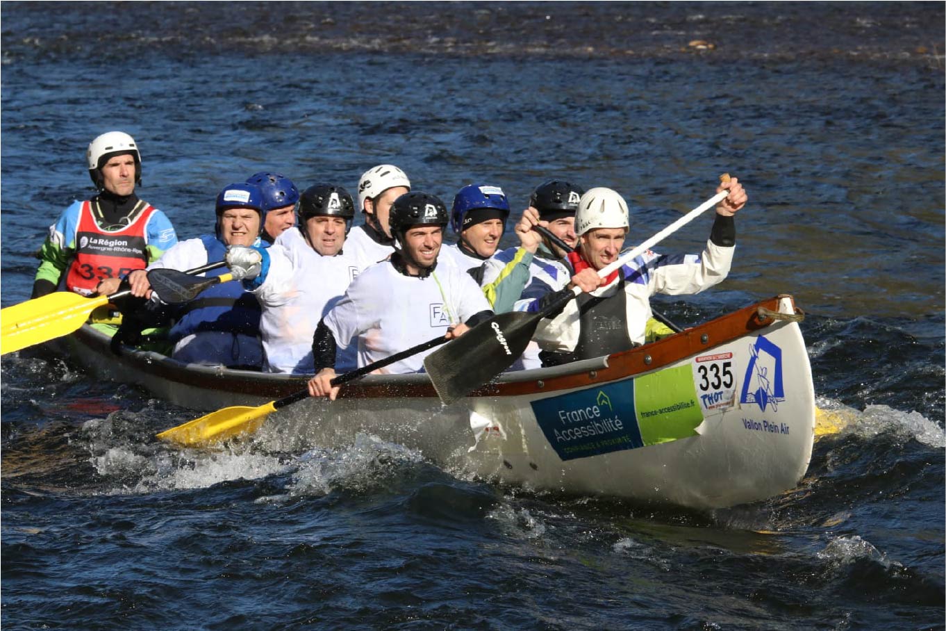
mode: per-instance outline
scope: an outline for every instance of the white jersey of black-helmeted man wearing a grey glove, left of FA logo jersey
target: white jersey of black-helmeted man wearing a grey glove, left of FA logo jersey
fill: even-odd
[[[263,370],[270,373],[309,375],[312,364],[312,335],[331,307],[342,300],[345,289],[359,268],[342,253],[323,256],[308,244],[297,228],[289,228],[276,238],[267,252],[270,266],[262,284],[253,290],[263,307],[259,332],[263,339]],[[340,353],[340,370],[355,368],[355,352]]]

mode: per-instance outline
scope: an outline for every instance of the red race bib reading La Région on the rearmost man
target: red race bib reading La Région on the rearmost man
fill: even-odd
[[[118,278],[148,266],[148,219],[155,211],[140,201],[128,216],[128,225],[105,230],[98,204],[82,202],[76,230],[76,256],[66,274],[65,286],[82,295],[92,295],[104,278]]]

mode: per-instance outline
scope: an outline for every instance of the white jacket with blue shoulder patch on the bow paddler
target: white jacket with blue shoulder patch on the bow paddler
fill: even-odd
[[[646,341],[647,321],[651,318],[650,297],[655,293],[670,295],[699,293],[723,281],[732,264],[735,247],[723,247],[707,241],[703,254],[662,255],[646,252],[622,266],[626,304],[627,335],[631,342]],[[552,290],[564,289],[569,278],[562,279]],[[593,296],[611,296],[617,283],[611,283],[591,292]],[[518,311],[534,311],[537,301],[524,299],[516,304]],[[535,330],[533,340],[543,350],[571,352],[578,344],[580,333],[578,306],[572,300],[555,318],[543,318]]]

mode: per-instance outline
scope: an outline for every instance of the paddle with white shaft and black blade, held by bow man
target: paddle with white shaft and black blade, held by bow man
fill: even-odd
[[[690,223],[708,209],[727,198],[728,191],[717,193],[689,213],[648,238],[621,258],[598,271],[602,278],[647,252],[664,238]],[[511,311],[493,316],[464,333],[461,337],[424,359],[424,367],[440,400],[449,405],[481,387],[522,355],[532,340],[542,318],[560,311],[582,292],[572,289],[571,295],[535,313]]]

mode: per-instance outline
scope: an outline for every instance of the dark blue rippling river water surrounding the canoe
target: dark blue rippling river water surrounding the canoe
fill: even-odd
[[[447,202],[482,180],[517,208],[567,177],[621,191],[641,239],[728,171],[750,196],[733,272],[657,304],[692,324],[793,293],[818,405],[852,418],[797,489],[692,513],[497,487],[371,436],[181,451],[152,435],[193,412],[13,355],[5,627],[943,627],[941,3],[0,11],[4,307],[112,129],[183,237],[263,169],[354,190],[392,162]]]

